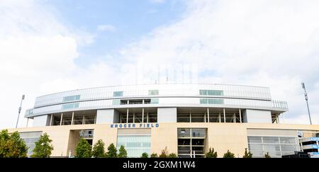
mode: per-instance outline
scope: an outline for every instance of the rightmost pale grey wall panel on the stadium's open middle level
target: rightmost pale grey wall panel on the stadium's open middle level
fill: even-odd
[[[272,123],[272,114],[270,110],[243,110],[242,117],[244,122],[249,123]]]

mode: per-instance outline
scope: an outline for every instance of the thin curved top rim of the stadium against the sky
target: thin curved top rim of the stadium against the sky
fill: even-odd
[[[198,84],[188,83],[188,84],[189,85],[251,86],[251,85],[240,85],[240,84],[205,84],[205,83],[198,83]],[[97,86],[97,87],[79,88],[79,89],[74,89],[74,90],[49,93],[49,94],[45,94],[43,96],[38,96],[37,98],[53,95],[53,94],[56,94],[56,93],[66,93],[66,92],[69,92],[69,91],[79,91],[79,90],[87,90],[87,89],[93,89],[93,88],[108,88],[108,87],[116,87],[116,86],[150,86],[150,85],[178,85],[178,84],[176,84],[176,83],[175,84],[165,83],[165,84],[128,84],[128,85],[114,85],[114,86]],[[180,85],[187,85],[187,84],[186,83],[182,83]],[[252,87],[269,88],[267,86],[252,86]]]

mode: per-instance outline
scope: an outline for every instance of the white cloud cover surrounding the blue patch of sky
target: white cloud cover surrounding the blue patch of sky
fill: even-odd
[[[5,98],[0,104],[6,106],[0,108],[0,126],[13,127],[23,93],[23,108],[31,108],[44,93],[154,83],[167,76],[178,82],[269,86],[274,98],[289,103],[286,122],[296,123],[308,123],[305,81],[318,124],[319,23],[313,21],[319,21],[319,1],[185,3],[181,21],[123,47],[121,60],[114,57],[118,65],[108,60],[83,69],[74,64],[77,49],[94,42],[94,35],[66,28],[37,1],[1,1],[0,94]]]

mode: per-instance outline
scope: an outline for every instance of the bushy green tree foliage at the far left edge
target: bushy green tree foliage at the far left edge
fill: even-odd
[[[9,134],[8,130],[0,132],[0,158],[26,158],[28,155],[26,142],[18,132]]]

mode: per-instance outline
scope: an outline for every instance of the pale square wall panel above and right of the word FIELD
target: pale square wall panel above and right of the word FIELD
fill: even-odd
[[[177,108],[157,108],[157,122],[177,122]]]

